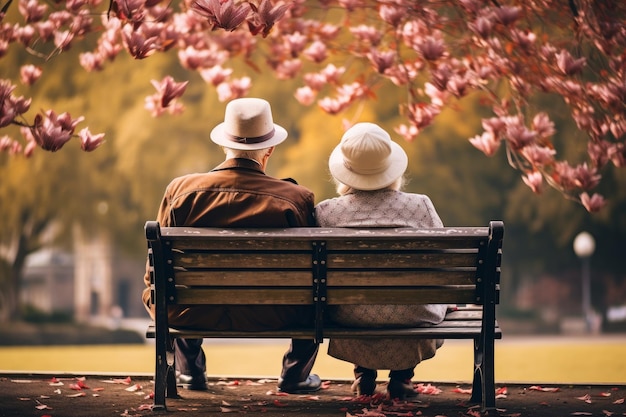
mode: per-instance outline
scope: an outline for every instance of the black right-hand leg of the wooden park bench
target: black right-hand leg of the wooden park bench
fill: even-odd
[[[498,415],[495,386],[495,343],[483,337],[474,339],[474,380],[470,402],[480,404],[483,415]]]

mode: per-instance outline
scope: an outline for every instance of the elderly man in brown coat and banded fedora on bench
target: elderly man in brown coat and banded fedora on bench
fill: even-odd
[[[274,124],[267,101],[231,101],[224,122],[211,131],[211,140],[224,149],[225,161],[209,172],[172,180],[157,220],[164,227],[313,226],[313,193],[291,179],[265,174],[274,147],[286,138],[287,131]],[[143,292],[143,301],[154,315],[148,273],[144,281],[148,288]],[[170,308],[168,314],[170,323],[176,326],[259,330],[310,324],[313,311],[301,306],[183,306]],[[206,389],[202,339],[176,339],[175,349],[178,382],[189,389]],[[292,340],[283,357],[278,389],[288,393],[318,390],[320,378],[310,374],[317,351],[313,340]]]

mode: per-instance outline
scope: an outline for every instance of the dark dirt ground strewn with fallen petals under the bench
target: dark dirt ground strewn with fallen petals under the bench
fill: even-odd
[[[314,395],[276,392],[276,380],[210,379],[205,392],[180,390],[168,399],[168,411],[157,415],[216,416],[359,416],[464,417],[478,416],[467,403],[469,384],[417,383],[412,401],[392,403],[379,382],[372,397],[357,398],[349,381],[325,381]],[[148,376],[0,375],[0,417],[148,416],[153,383]],[[626,416],[626,385],[533,386],[498,385],[497,407],[502,417]]]

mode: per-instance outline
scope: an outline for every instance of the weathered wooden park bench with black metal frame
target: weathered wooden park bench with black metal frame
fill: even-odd
[[[488,227],[224,229],[145,226],[156,338],[154,410],[177,397],[173,340],[185,338],[473,339],[470,401],[495,411],[494,348],[504,225]],[[327,306],[456,305],[430,327],[347,328]],[[174,328],[170,305],[311,305],[307,328],[216,331]]]

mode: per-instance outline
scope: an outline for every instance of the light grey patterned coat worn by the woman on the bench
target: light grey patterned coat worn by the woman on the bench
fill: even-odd
[[[443,227],[430,198],[394,190],[353,191],[315,207],[322,227]],[[447,305],[354,305],[329,310],[331,320],[349,326],[413,326],[440,323]],[[331,340],[328,354],[369,369],[401,370],[435,355],[440,339]]]

